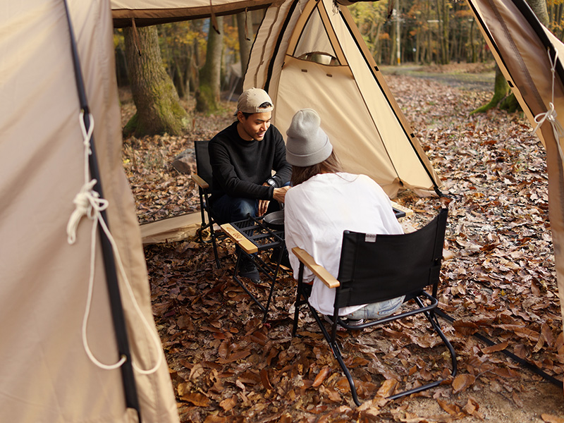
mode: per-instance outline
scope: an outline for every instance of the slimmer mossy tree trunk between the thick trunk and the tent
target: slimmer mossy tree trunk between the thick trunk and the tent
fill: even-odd
[[[223,16],[217,16],[217,25],[223,30]],[[196,92],[196,110],[212,113],[219,109],[221,94],[221,55],[223,32],[219,34],[209,27],[207,37],[206,63],[200,70],[200,89]]]

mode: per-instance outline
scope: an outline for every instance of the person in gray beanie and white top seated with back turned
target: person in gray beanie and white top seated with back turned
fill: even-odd
[[[286,160],[292,165],[293,187],[286,193],[286,247],[294,277],[300,263],[292,253],[300,247],[338,276],[343,231],[374,234],[403,233],[391,202],[380,185],[365,175],[341,171],[329,137],[320,127],[321,118],[312,109],[298,111],[286,132]],[[313,281],[309,304],[325,315],[333,314],[335,290],[314,278],[307,267],[304,281]],[[398,309],[403,297],[339,309],[349,324],[379,319]]]

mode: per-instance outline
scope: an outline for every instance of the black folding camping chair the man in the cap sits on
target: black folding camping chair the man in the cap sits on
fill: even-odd
[[[212,207],[209,204],[210,187],[209,183],[212,181],[212,164],[209,161],[209,152],[207,146],[209,141],[195,141],[194,150],[196,154],[196,169],[197,173],[192,173],[192,180],[198,185],[198,194],[200,195],[200,213],[202,214],[202,223],[198,229],[198,239],[201,243],[211,242],[214,247],[214,257],[216,259],[216,266],[221,268],[219,255],[217,254],[217,240],[223,239],[223,233],[217,233],[214,230],[214,215]],[[207,216],[207,219],[206,219]],[[204,240],[203,231],[209,229],[209,240]]]

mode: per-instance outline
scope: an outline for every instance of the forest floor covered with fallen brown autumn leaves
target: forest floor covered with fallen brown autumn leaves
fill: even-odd
[[[407,75],[400,69],[383,72],[447,197],[403,192],[396,201],[415,211],[407,218],[414,226],[448,204],[446,248],[453,258],[443,262],[439,299],[455,319],[441,319],[441,326],[458,354],[458,376],[388,401],[396,384],[406,388],[439,377],[450,365],[445,349],[420,319],[343,334],[345,360],[364,402],[355,407],[312,318],[301,314],[301,337],[291,336],[295,283],[289,271],[262,324],[257,307],[233,283],[233,243],[220,243],[222,269],[215,268],[209,244],[196,238],[146,245],[154,317],[182,422],[564,422],[564,337],[544,149],[522,114],[469,116],[491,93],[466,81],[491,78],[493,87],[493,68],[411,68]],[[462,75],[458,85],[456,75]],[[125,123],[135,106],[126,91],[121,102]],[[194,116],[185,135],[124,141],[140,223],[197,210],[190,176],[171,161],[231,123],[235,109],[226,102],[224,113],[198,116],[190,102],[185,106]]]

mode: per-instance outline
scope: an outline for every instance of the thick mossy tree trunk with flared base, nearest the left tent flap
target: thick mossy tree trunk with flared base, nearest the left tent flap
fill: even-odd
[[[157,27],[124,28],[125,56],[137,113],[125,125],[124,136],[137,137],[169,133],[180,135],[188,114],[180,105],[178,93],[164,69]],[[139,51],[137,51],[137,47]]]

